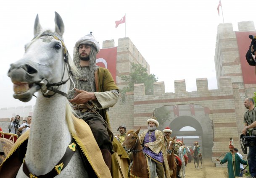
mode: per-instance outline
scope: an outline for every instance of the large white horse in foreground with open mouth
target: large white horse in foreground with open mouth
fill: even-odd
[[[55,32],[42,31],[37,15],[34,24],[35,37],[26,44],[21,60],[11,64],[8,76],[14,84],[13,97],[16,99],[27,102],[34,92],[41,91],[37,96],[25,157],[31,176],[45,175],[57,169],[57,172],[61,171],[56,177],[88,178],[77,151],[68,164],[64,165],[64,169],[63,165],[57,164],[68,150],[73,134],[76,134],[72,119],[74,116],[66,98],[69,92],[69,71],[74,72],[76,68],[68,58],[62,40],[63,32],[64,24],[58,13],[55,12]],[[98,149],[94,149],[96,153]],[[110,175],[103,158],[102,162],[102,171]],[[27,178],[22,169],[23,165],[24,163],[18,170],[18,178]]]

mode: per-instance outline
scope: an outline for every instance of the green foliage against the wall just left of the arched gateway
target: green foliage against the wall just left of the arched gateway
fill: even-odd
[[[169,121],[171,120],[171,118],[170,118],[171,113],[168,109],[166,109],[165,106],[157,107],[154,111],[154,115],[157,118],[157,121],[159,123],[158,130],[163,130],[166,127],[166,126],[164,126],[164,123],[167,120],[169,120]]]

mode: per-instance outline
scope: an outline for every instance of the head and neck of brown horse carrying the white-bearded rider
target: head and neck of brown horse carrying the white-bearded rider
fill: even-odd
[[[140,128],[137,131],[128,131],[122,146],[124,149],[132,152],[132,168],[130,170],[130,178],[148,178],[148,165],[145,155],[140,145],[139,134]]]

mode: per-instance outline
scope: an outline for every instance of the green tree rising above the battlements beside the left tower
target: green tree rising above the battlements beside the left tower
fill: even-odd
[[[127,82],[127,86],[123,89],[120,89],[121,97],[124,102],[124,95],[126,92],[132,92],[134,84],[143,84],[145,85],[145,94],[154,93],[154,82],[157,81],[155,74],[148,74],[147,68],[143,67],[141,64],[132,63],[132,72],[129,75],[121,75],[121,79]]]

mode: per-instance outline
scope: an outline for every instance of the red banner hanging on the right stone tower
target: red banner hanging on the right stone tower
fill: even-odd
[[[251,44],[251,39],[249,38],[250,34],[255,36],[256,31],[235,31],[244,84],[256,84],[256,76],[254,74],[255,66],[249,65],[245,58],[245,54],[249,50]]]

